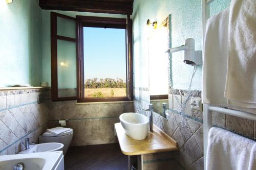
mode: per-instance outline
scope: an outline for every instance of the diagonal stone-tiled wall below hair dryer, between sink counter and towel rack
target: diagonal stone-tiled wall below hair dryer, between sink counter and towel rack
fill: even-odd
[[[180,151],[174,153],[176,169],[203,169],[203,113],[190,107],[182,114],[178,113],[176,108],[185,97],[184,93],[169,94],[169,119],[155,116],[155,121],[158,127],[178,142]]]

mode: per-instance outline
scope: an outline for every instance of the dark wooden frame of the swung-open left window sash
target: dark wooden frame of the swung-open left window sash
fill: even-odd
[[[51,95],[52,101],[76,100],[77,96],[58,97],[58,63],[57,63],[57,40],[77,42],[76,38],[57,35],[57,17],[76,21],[76,18],[51,12]],[[76,52],[77,53],[77,52]]]

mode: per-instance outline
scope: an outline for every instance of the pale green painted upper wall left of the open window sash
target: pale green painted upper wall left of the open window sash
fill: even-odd
[[[0,87],[41,81],[41,9],[35,0],[0,1]]]

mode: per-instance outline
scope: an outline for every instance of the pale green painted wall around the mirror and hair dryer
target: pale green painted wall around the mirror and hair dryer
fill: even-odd
[[[229,5],[230,0],[216,0],[210,8],[217,13]],[[185,39],[196,40],[196,50],[202,50],[202,7],[201,0],[137,0],[134,1],[134,72],[135,87],[147,87],[148,82],[148,27],[146,20],[161,23],[169,14],[172,15],[172,47],[184,44]],[[188,89],[193,66],[183,63],[183,52],[172,55],[172,78],[176,89]],[[161,73],[159,73],[161,74]],[[192,89],[201,89],[202,67],[194,77]]]

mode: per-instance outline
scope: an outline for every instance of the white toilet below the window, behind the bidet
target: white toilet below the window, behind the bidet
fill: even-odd
[[[57,142],[64,144],[63,155],[65,155],[69,149],[70,142],[73,137],[73,129],[63,132],[59,135],[54,135],[49,132],[45,132],[39,136],[39,143]]]

